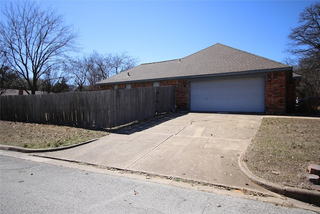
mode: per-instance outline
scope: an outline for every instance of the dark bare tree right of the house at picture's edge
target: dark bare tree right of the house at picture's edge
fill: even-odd
[[[290,29],[286,52],[291,59],[294,72],[301,75],[297,88],[300,96],[320,96],[320,2],[306,7],[299,15],[298,27]]]

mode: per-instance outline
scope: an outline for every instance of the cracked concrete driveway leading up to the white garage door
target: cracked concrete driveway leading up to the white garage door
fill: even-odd
[[[237,163],[262,118],[242,114],[166,114],[91,143],[41,156],[270,193],[252,183]]]

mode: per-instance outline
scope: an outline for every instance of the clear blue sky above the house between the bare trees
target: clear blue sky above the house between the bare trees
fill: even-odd
[[[80,33],[83,53],[126,51],[142,64],[183,58],[216,43],[284,62],[290,28],[314,1],[37,2],[64,14]],[[1,0],[1,10],[7,3]]]

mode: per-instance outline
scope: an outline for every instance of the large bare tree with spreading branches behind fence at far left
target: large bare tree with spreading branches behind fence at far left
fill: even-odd
[[[78,34],[56,10],[43,10],[36,2],[10,4],[2,13],[6,23],[0,23],[1,47],[12,70],[34,94],[38,79],[60,70],[67,53],[77,50]]]

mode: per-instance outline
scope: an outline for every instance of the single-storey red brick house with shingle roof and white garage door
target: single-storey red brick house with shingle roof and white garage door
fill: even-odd
[[[284,113],[294,107],[292,67],[222,44],[187,57],[141,64],[104,79],[101,90],[175,86],[190,111]]]

